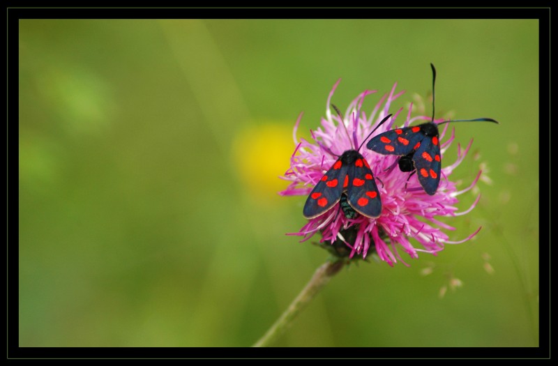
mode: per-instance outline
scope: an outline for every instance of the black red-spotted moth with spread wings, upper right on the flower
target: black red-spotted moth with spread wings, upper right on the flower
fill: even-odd
[[[384,155],[400,155],[398,160],[401,171],[418,173],[418,182],[421,183],[428,195],[434,195],[440,182],[442,161],[440,157],[440,144],[438,126],[434,123],[434,84],[436,69],[432,67],[432,121],[412,127],[396,128],[383,132],[366,144],[370,150]],[[461,119],[448,122],[494,122],[494,119]],[[438,123],[438,124],[441,124]],[[409,176],[410,177],[410,176]]]

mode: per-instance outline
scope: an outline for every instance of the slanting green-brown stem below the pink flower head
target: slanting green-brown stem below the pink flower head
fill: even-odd
[[[331,277],[333,277],[339,270],[345,265],[346,261],[343,260],[333,260],[327,261],[322,264],[314,275],[310,282],[306,284],[306,287],[299,293],[299,296],[293,300],[291,305],[287,307],[287,310],[281,315],[279,319],[269,330],[260,338],[252,347],[266,347],[273,344],[282,333],[289,328],[293,319],[301,312],[308,303],[314,298],[314,296],[319,292],[319,290],[324,287]]]

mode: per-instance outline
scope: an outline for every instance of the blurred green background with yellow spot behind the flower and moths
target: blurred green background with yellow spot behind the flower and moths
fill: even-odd
[[[342,270],[276,345],[538,346],[536,20],[20,20],[19,52],[20,346],[253,344],[326,259],[276,193],[297,116],[430,62],[438,117],[501,123],[454,125],[490,181],[444,222],[483,229]]]

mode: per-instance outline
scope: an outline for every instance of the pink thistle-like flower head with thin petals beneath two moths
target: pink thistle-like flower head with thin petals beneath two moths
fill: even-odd
[[[296,148],[290,159],[290,167],[285,175],[280,177],[289,181],[287,189],[279,192],[280,195],[307,196],[312,188],[322,178],[324,173],[330,169],[338,157],[347,150],[359,148],[370,132],[377,127],[378,123],[389,114],[391,103],[399,98],[404,91],[395,93],[397,83],[393,85],[390,93],[380,98],[379,102],[367,116],[361,110],[363,100],[366,96],[376,91],[363,91],[354,99],[345,117],[340,117],[331,109],[331,99],[340,80],[335,83],[329,93],[326,102],[326,117],[322,118],[322,126],[315,131],[310,131],[312,139],[297,139],[296,130],[299,126],[301,116],[294,125],[293,138]],[[431,121],[429,116],[411,117],[412,108],[404,116],[398,127],[406,127],[415,121]],[[395,128],[394,122],[400,116],[402,108],[393,113],[393,116],[383,125],[377,128],[375,135]],[[443,121],[435,120],[435,123]],[[328,245],[339,257],[354,257],[359,254],[363,259],[368,252],[376,252],[379,259],[393,266],[397,261],[408,264],[400,257],[400,250],[409,254],[409,257],[418,258],[418,252],[428,252],[436,255],[444,249],[446,244],[458,244],[468,241],[475,236],[480,227],[474,233],[462,241],[449,241],[445,230],[454,230],[453,227],[439,221],[439,218],[455,217],[465,215],[474,208],[480,198],[476,198],[472,206],[463,212],[458,212],[455,204],[457,197],[471,190],[481,171],[478,172],[469,187],[457,190],[450,176],[453,170],[460,165],[467,155],[472,141],[466,148],[458,145],[458,153],[455,161],[451,162],[444,153],[455,139],[455,130],[452,128],[451,135],[442,142],[448,124],[440,130],[440,147],[442,153],[442,178],[434,195],[428,195],[418,183],[416,174],[409,178],[409,172],[398,169],[398,156],[381,155],[368,148],[362,147],[359,151],[368,161],[373,175],[376,177],[377,187],[382,199],[382,213],[379,218],[367,218],[357,215],[356,218],[347,218],[340,213],[339,202],[323,215],[308,220],[299,232],[290,235],[303,236],[306,241],[314,234],[321,234],[321,245]],[[414,247],[413,242],[418,242],[420,247]]]

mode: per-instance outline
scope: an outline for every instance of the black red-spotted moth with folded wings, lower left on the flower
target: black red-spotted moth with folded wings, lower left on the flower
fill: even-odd
[[[389,117],[391,117],[391,114],[382,119],[376,128],[387,121]],[[370,135],[376,128],[370,132]],[[359,149],[361,146],[359,146]],[[329,211],[340,201],[342,195],[347,196],[346,198],[343,197],[341,206],[347,218],[356,217],[350,208],[368,218],[379,217],[382,212],[382,201],[372,175],[372,169],[370,169],[370,165],[368,165],[363,155],[359,153],[359,149],[347,150],[342,153],[326,174],[322,176],[308,195],[308,199],[306,199],[303,208],[305,218],[316,218]]]

